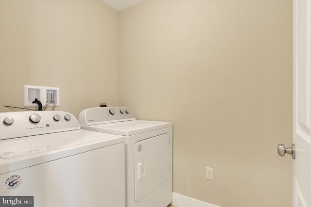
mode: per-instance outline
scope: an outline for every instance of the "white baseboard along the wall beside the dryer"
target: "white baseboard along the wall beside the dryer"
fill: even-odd
[[[176,207],[219,207],[175,192],[173,192],[173,201],[171,204]]]

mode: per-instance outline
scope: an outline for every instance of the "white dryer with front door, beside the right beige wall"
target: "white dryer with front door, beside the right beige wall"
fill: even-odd
[[[173,124],[136,120],[123,107],[80,112],[80,127],[124,136],[126,207],[167,207],[172,202]]]

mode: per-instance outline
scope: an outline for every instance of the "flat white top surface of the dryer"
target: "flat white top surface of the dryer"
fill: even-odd
[[[124,136],[130,136],[139,134],[155,129],[173,126],[172,122],[157,122],[157,121],[124,121],[111,124],[99,124],[91,126],[80,126],[83,129],[99,131],[111,134],[119,134]]]

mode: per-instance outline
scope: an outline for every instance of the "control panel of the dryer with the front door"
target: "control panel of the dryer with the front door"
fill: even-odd
[[[80,125],[106,124],[113,122],[136,120],[135,114],[125,107],[96,107],[80,112]]]

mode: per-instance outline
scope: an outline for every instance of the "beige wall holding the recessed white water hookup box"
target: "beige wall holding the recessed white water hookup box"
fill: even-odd
[[[118,105],[118,20],[101,0],[0,0],[0,111],[24,107],[24,85],[59,87],[76,116]]]

